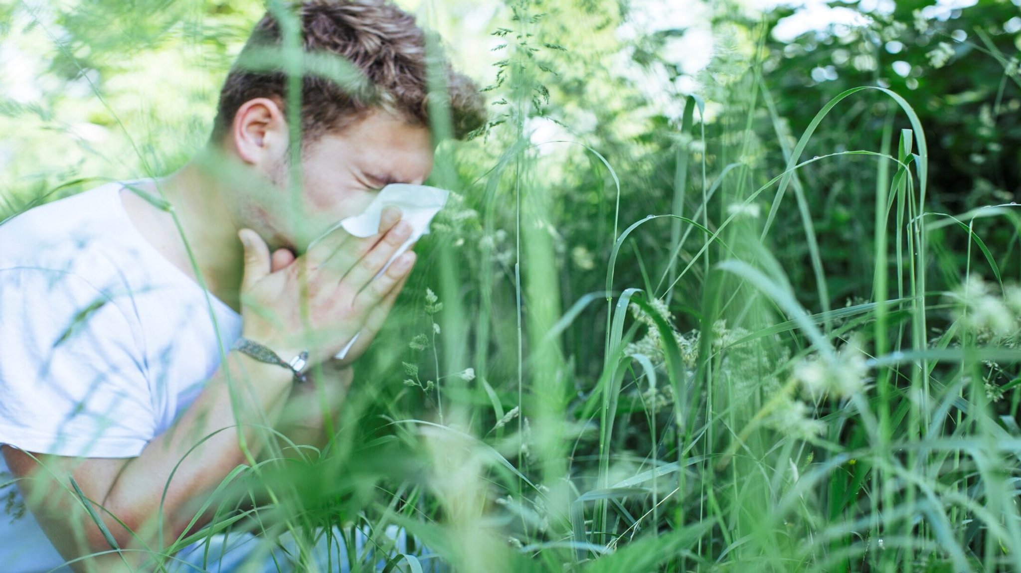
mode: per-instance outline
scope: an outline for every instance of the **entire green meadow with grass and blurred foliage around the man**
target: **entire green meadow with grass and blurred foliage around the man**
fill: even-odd
[[[743,2],[406,4],[490,121],[437,150],[453,199],[329,446],[156,561],[254,523],[308,571],[331,531],[354,571],[1021,571],[1016,3],[787,41]],[[40,70],[0,91],[0,220],[180,166],[261,9],[0,0]]]

